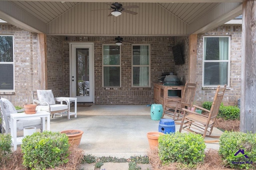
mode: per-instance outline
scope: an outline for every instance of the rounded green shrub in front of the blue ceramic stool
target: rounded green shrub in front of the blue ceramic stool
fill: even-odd
[[[170,133],[158,138],[158,156],[163,164],[180,162],[191,167],[204,161],[206,145],[195,133]]]

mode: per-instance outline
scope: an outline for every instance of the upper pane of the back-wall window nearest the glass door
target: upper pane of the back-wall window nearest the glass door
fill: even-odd
[[[120,65],[120,46],[104,45],[103,46],[103,64]]]

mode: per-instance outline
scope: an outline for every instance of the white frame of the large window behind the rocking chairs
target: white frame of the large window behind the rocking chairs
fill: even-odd
[[[209,38],[209,37],[228,37],[228,60],[204,60],[204,39],[205,38]],[[230,47],[231,46],[231,37],[230,36],[225,36],[225,35],[208,35],[208,36],[203,36],[203,59],[202,59],[202,87],[217,87],[218,85],[204,85],[204,63],[208,63],[208,62],[228,62],[228,77],[227,77],[227,87],[230,86]],[[224,85],[221,85],[224,86]]]

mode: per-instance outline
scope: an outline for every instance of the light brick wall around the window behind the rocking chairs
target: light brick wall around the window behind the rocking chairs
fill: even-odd
[[[242,49],[242,25],[222,25],[216,29],[207,32],[207,35],[230,35],[230,87],[226,89],[223,97],[224,105],[237,105],[237,99],[240,98],[240,80],[241,80],[241,49]],[[197,49],[197,76],[196,81],[199,86],[196,92],[197,104],[213,101],[215,89],[202,89],[202,60],[203,60],[203,35],[198,35]]]

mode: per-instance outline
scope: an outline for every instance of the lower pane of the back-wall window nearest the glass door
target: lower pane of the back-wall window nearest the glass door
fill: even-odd
[[[120,87],[120,67],[104,66],[104,87]]]

